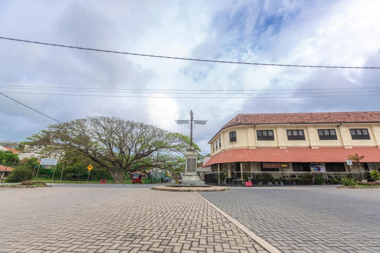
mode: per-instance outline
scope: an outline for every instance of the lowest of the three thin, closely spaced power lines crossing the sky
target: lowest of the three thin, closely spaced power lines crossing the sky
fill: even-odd
[[[84,95],[84,94],[59,94],[59,93],[32,93],[32,92],[2,92],[34,95],[61,95],[61,96],[99,96],[99,97],[119,97],[119,98],[329,98],[345,96],[379,96],[380,94],[363,94],[363,95],[332,95],[332,96],[233,96],[233,97],[207,97],[207,96],[116,96],[116,95]],[[3,94],[2,94],[3,95]]]

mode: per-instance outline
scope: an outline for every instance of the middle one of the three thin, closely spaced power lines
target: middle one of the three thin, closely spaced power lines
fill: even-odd
[[[258,92],[258,93],[220,93],[220,92],[147,92],[147,91],[110,91],[110,90],[62,90],[62,89],[41,89],[41,88],[10,88],[10,87],[0,87],[0,89],[22,89],[22,90],[54,90],[63,92],[108,92],[108,93],[152,93],[152,94],[321,94],[321,93],[358,93],[358,92],[380,92],[380,90],[365,90],[365,91],[336,91],[336,92]]]

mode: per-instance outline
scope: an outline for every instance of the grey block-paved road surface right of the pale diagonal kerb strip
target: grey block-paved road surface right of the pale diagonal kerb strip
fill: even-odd
[[[283,252],[380,252],[380,190],[242,188],[199,193]]]

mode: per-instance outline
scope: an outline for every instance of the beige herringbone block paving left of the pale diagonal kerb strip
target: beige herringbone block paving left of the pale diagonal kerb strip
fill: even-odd
[[[195,193],[0,189],[0,252],[267,252]]]

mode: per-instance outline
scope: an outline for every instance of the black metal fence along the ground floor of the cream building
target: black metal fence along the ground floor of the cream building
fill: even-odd
[[[307,172],[307,171],[233,171],[231,177],[226,172],[211,172],[204,175],[204,182],[211,184],[245,185],[324,185],[340,184],[340,177],[348,176],[356,180],[371,180],[369,171],[359,172]],[[224,179],[224,180],[223,180]]]

